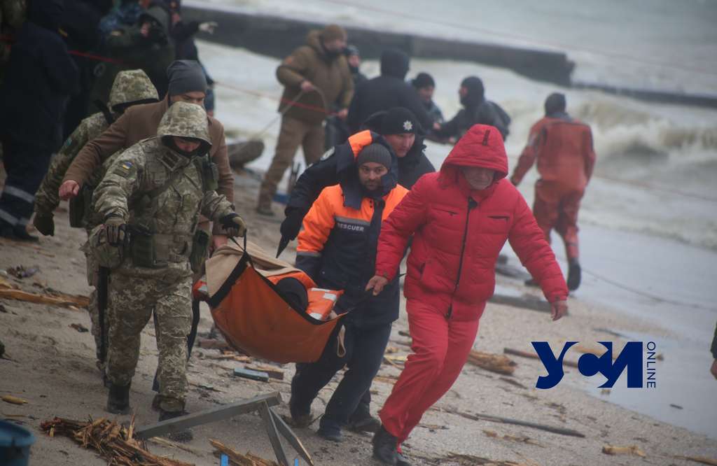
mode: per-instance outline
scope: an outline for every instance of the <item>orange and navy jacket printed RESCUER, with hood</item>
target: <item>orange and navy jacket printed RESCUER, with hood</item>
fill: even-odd
[[[384,176],[383,189],[376,194],[364,191],[356,164],[351,161],[348,176],[339,185],[329,186],[311,206],[303,221],[296,248],[296,267],[306,272],[318,287],[344,290],[336,308],[348,308],[359,327],[391,323],[399,315],[399,280],[395,277],[378,296],[367,295],[366,283],[374,275],[376,243],[381,224],[406,195],[396,183],[396,156],[375,133],[364,131],[341,151],[355,158],[371,143],[384,145],[394,163]]]

